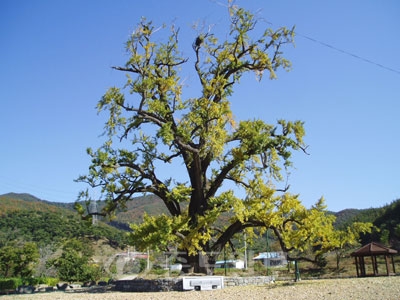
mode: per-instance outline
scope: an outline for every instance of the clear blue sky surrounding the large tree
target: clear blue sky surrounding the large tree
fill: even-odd
[[[238,118],[305,121],[310,155],[296,154],[290,191],[309,207],[379,207],[400,198],[400,2],[236,1],[265,26],[296,25],[291,72],[243,80]],[[86,186],[86,148],[102,142],[95,106],[121,84],[111,66],[141,16],[174,22],[190,56],[195,21],[226,29],[226,2],[0,1],[0,194],[73,202]],[[190,82],[190,81],[189,81]]]

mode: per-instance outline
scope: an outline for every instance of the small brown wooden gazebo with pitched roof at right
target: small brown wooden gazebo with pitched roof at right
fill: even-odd
[[[357,277],[365,277],[365,276],[379,276],[379,275],[392,275],[396,273],[394,267],[394,259],[393,256],[397,254],[397,251],[394,249],[390,249],[378,243],[369,243],[360,249],[351,253],[351,256],[354,257],[357,269]],[[377,257],[384,256],[386,263],[386,274],[379,274],[378,272],[378,262]],[[367,274],[365,270],[365,257],[371,257],[372,262],[372,270],[373,274]],[[393,272],[390,272],[390,264],[392,265]]]

